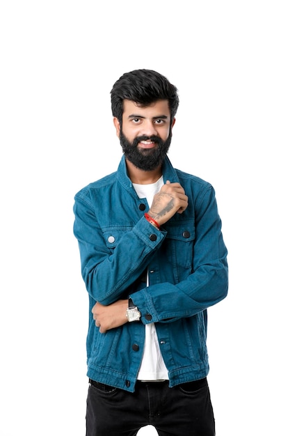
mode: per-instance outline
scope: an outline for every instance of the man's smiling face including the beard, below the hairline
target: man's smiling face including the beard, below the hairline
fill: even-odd
[[[168,100],[158,100],[140,107],[131,100],[123,102],[122,127],[114,118],[123,153],[143,171],[156,169],[163,161],[171,142]],[[175,121],[175,120],[174,120]]]

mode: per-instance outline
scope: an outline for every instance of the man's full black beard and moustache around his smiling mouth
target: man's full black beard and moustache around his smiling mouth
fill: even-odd
[[[168,134],[166,141],[162,141],[159,137],[136,137],[133,142],[130,142],[120,131],[120,144],[126,159],[134,164],[138,169],[143,171],[152,171],[156,169],[162,162],[166,154],[168,153],[170,143],[171,143],[172,132]],[[156,144],[155,148],[143,148],[140,150],[138,148],[138,143],[140,141],[147,141],[150,139]]]

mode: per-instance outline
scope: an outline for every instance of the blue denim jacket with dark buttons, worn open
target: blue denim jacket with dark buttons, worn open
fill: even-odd
[[[149,322],[156,323],[170,387],[206,377],[207,308],[227,295],[227,249],[214,188],[173,169],[168,157],[163,180],[184,187],[188,208],[161,231],[144,217],[149,207],[127,176],[124,156],[118,171],[75,196],[74,235],[90,309],[87,375],[127,391],[134,391]],[[141,320],[100,334],[91,313],[95,302],[129,296]]]

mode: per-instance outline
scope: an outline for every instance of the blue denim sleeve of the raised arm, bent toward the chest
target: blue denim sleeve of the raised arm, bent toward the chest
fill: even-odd
[[[79,192],[74,200],[74,235],[90,297],[104,305],[128,297],[127,290],[144,272],[166,232],[154,229],[142,216],[136,224],[128,224],[118,244],[110,248],[89,192]]]

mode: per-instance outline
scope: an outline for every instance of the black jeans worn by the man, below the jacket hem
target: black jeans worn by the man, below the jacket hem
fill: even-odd
[[[214,436],[207,379],[172,388],[167,381],[137,382],[133,394],[90,380],[86,436],[136,436],[147,425],[160,436]]]

